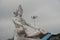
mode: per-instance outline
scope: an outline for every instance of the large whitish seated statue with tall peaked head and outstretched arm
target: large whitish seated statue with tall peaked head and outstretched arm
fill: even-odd
[[[39,35],[40,33],[44,33],[43,31],[41,31],[41,29],[35,28],[31,25],[29,25],[23,18],[22,18],[22,14],[23,14],[23,9],[21,7],[21,5],[19,5],[19,8],[16,12],[14,12],[14,17],[13,17],[13,22],[15,24],[15,33],[14,33],[14,40],[31,40],[31,37],[35,37],[37,35]],[[26,27],[31,27],[33,29],[36,30],[36,32],[33,32],[32,34],[27,34],[26,33]],[[32,38],[33,39],[33,38]],[[37,38],[35,38],[34,40],[37,40]],[[40,40],[40,38],[38,38],[38,40]]]

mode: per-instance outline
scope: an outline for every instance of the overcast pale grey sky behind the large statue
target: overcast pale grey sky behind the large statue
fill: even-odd
[[[13,36],[12,17],[19,4],[24,10],[23,18],[31,25],[31,16],[36,15],[37,27],[60,33],[60,0],[0,0],[0,40]]]

